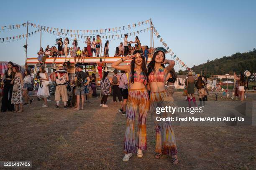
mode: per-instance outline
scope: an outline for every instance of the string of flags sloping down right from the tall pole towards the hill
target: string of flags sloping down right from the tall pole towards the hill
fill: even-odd
[[[180,60],[179,57],[177,57],[177,55],[174,54],[172,49],[166,44],[166,42],[163,40],[163,38],[159,35],[159,32],[157,32],[157,30],[153,24],[152,24],[152,30],[153,30],[154,34],[156,35],[156,37],[160,40],[162,45],[164,45],[164,48],[167,50],[167,52],[169,52],[169,54],[173,57],[173,59],[179,65],[179,67],[181,67],[182,70],[191,71],[193,73],[193,75],[195,75],[195,72],[191,68],[189,68],[182,60]]]

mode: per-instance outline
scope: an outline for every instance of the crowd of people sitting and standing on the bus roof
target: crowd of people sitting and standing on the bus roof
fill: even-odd
[[[143,55],[146,58],[146,61],[148,61],[148,56],[151,55],[151,52],[153,52],[153,48],[148,48],[148,46],[141,46],[141,42],[138,38],[138,36],[135,37],[135,41],[128,41],[127,40],[128,35],[126,34],[124,37],[123,42],[120,43],[118,47],[116,47],[115,55],[114,56],[127,56],[132,55],[134,51],[141,50]],[[135,46],[132,47],[131,44],[134,43]],[[46,58],[54,58],[53,63],[55,63],[55,60],[57,57],[73,57],[74,62],[82,62],[84,63],[84,57],[93,57],[95,54],[95,57],[99,57],[100,55],[100,47],[102,47],[102,40],[100,39],[100,35],[92,38],[92,41],[90,37],[88,37],[85,41],[85,44],[87,45],[82,50],[80,47],[78,47],[77,38],[74,38],[72,42],[72,47],[68,47],[69,45],[69,38],[66,37],[64,42],[62,38],[59,38],[56,40],[56,46],[49,46],[47,45],[45,50],[43,47],[40,48],[38,51],[38,64],[43,65],[46,61]],[[64,46],[64,48],[63,48]],[[103,57],[109,57],[109,41],[107,40],[105,42],[105,45],[103,47]]]

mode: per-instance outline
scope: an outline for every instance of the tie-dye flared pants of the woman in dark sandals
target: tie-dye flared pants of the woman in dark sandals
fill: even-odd
[[[173,105],[171,102],[165,102],[164,98],[167,97],[167,92],[151,92],[150,93],[150,111],[151,117],[154,119],[154,126],[156,130],[156,153],[163,153],[168,155],[176,155],[177,147],[172,129],[171,121],[157,121],[156,117],[168,117],[172,116],[171,113],[161,112],[156,114],[156,107],[165,107],[165,105]],[[169,106],[168,106],[169,107]]]

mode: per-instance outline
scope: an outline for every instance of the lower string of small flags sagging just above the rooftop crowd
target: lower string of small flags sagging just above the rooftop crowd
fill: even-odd
[[[145,28],[143,30],[139,30],[139,31],[134,31],[134,32],[129,32],[129,33],[124,33],[124,34],[116,34],[116,35],[102,35],[101,38],[102,38],[102,42],[106,42],[107,40],[109,41],[112,41],[112,40],[119,40],[119,39],[122,39],[124,38],[124,35],[127,34],[127,35],[137,35],[137,34],[140,34],[142,32],[146,32],[150,29],[150,27],[148,28]],[[40,30],[40,29],[39,29]],[[45,30],[44,28],[42,28],[42,31],[44,32],[47,32],[47,30]],[[53,34],[53,35],[57,35],[59,37],[62,37],[62,38],[65,38],[67,37],[67,33],[61,33],[61,32],[56,32],[56,31],[48,31],[48,33],[50,34]],[[92,40],[93,37],[95,36],[92,36],[92,35],[77,35],[77,34],[70,34],[69,35],[70,38],[74,37],[74,38],[80,38],[80,39],[85,39],[85,40],[77,40],[79,42],[85,42],[87,38],[90,37],[90,39]],[[105,39],[105,40],[104,40]]]

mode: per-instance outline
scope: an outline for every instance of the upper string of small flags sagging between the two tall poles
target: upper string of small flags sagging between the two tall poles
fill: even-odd
[[[140,27],[142,25],[146,25],[150,23],[150,20],[141,21],[138,23],[133,23],[125,26],[120,27],[113,27],[113,28],[105,28],[105,29],[98,29],[98,30],[71,30],[71,29],[64,29],[64,28],[54,28],[54,27],[48,27],[48,26],[42,26],[38,24],[29,23],[28,25],[31,25],[31,27],[34,28],[42,28],[46,30],[46,32],[54,31],[54,32],[60,32],[60,34],[69,34],[69,35],[97,35],[97,34],[106,34],[106,33],[114,33],[114,32],[121,32],[126,29],[136,28]]]

